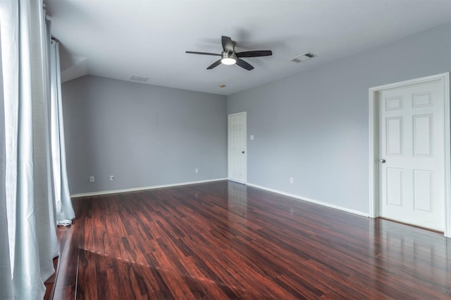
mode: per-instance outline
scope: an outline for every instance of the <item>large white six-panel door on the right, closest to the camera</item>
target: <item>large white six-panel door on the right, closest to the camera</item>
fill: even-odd
[[[444,96],[440,82],[378,93],[381,217],[445,228]]]

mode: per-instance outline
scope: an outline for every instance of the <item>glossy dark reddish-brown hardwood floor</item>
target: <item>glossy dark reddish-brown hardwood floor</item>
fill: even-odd
[[[451,240],[389,220],[227,181],[73,205],[53,299],[451,298]]]

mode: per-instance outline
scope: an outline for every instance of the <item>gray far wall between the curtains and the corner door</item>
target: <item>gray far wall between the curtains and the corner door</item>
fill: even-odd
[[[94,76],[62,96],[70,194],[227,177],[226,96]]]

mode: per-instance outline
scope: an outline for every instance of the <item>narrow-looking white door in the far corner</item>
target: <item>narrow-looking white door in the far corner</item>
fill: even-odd
[[[247,180],[246,112],[228,115],[228,177],[245,183]]]

